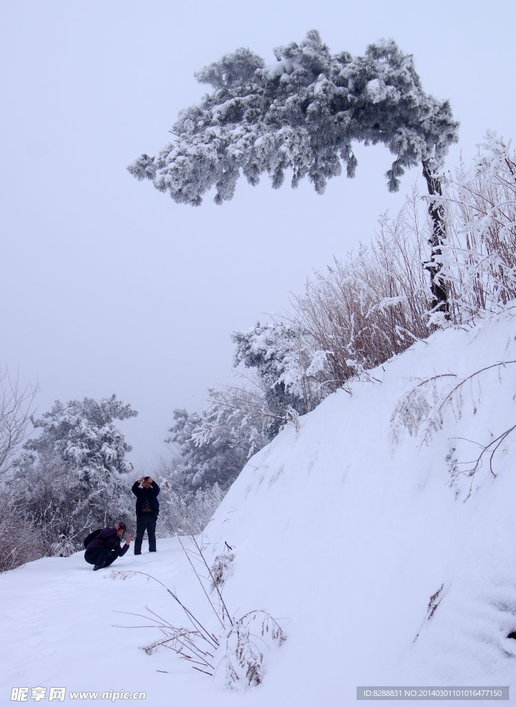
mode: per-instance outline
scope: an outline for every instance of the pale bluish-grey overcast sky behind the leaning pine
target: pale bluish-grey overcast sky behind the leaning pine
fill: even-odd
[[[233,201],[175,204],[127,165],[155,154],[205,87],[194,71],[237,47],[319,30],[332,52],[392,37],[423,88],[448,98],[471,159],[486,129],[510,139],[515,4],[508,0],[2,0],[0,367],[54,399],[113,392],[139,468],[165,451],[172,410],[229,382],[235,329],[288,305],[313,269],[373,238],[418,179],[387,192],[392,158],[357,146],[355,180],[276,191],[240,182]],[[287,180],[286,180],[287,182]]]

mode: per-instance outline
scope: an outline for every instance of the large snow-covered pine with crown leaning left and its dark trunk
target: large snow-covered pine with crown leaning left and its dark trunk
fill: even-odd
[[[322,194],[343,165],[348,177],[355,175],[353,142],[382,143],[395,156],[386,173],[391,191],[399,189],[406,168],[423,165],[433,220],[426,268],[433,306],[445,308],[437,174],[457,141],[449,103],[423,91],[413,57],[392,40],[376,42],[363,57],[353,58],[348,52],[331,54],[312,30],[300,44],[274,53],[276,64],[266,66],[250,49],[237,49],[199,71],[198,80],[208,83],[211,93],[180,113],[170,131],[175,141],[156,157],[142,155],[129,166],[131,174],[194,206],[212,187],[217,204],[232,199],[242,174],[257,185],[266,173],[278,188],[291,170],[293,187],[308,177]]]

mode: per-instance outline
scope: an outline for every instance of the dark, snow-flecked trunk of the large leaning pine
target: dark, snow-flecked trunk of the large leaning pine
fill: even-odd
[[[428,194],[430,197],[442,197],[442,188],[439,177],[432,173],[428,162],[423,161],[423,176],[426,179]],[[433,294],[432,309],[437,312],[445,312],[446,318],[450,317],[450,303],[448,300],[448,292],[445,281],[443,281],[438,273],[440,270],[439,262],[436,262],[435,257],[442,253],[441,246],[445,240],[445,212],[440,199],[430,199],[428,204],[428,213],[432,219],[432,237],[428,241],[432,247],[432,255],[430,261],[425,263],[424,267],[430,273],[430,288]]]

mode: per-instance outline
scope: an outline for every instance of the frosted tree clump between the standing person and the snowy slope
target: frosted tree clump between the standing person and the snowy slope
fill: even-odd
[[[232,339],[241,385],[209,390],[201,413],[176,409],[165,440],[178,453],[171,484],[186,498],[206,484],[228,489],[281,426],[314,409],[336,387],[325,352],[298,326],[257,322],[233,332]]]

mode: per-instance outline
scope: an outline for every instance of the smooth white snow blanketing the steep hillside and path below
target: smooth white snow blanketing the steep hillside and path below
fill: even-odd
[[[146,606],[184,624],[162,586],[127,573],[141,570],[220,631],[168,539],[156,555],[131,549],[96,573],[76,554],[1,575],[4,702],[13,687],[29,701],[45,688],[42,703],[66,687],[66,702],[83,690],[112,691],[111,701],[144,691],[151,706],[347,706],[360,685],[511,685],[516,431],[481,455],[516,424],[511,311],[438,332],[336,392],[235,481],[207,529],[206,558],[233,548],[230,612],[265,609],[286,632],[265,652],[262,684],[228,691],[223,670],[213,681],[171,650],[139,650],[156,629],[114,626],[148,624],[114,613]]]

